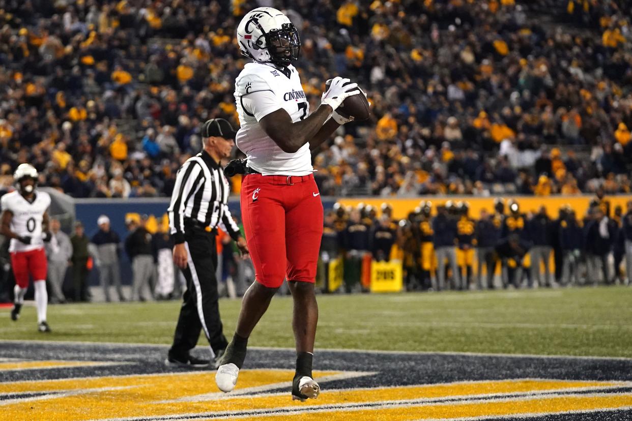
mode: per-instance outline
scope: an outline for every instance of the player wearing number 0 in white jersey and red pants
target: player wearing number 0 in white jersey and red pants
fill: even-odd
[[[40,332],[50,332],[46,323],[46,252],[44,241],[51,239],[49,232],[48,207],[51,196],[44,191],[36,191],[37,170],[28,163],[18,166],[13,174],[16,191],[2,196],[2,216],[0,234],[11,239],[11,267],[15,276],[15,294],[11,319],[20,317],[20,309],[28,288],[28,275],[33,278],[35,304],[37,305],[37,328]]]

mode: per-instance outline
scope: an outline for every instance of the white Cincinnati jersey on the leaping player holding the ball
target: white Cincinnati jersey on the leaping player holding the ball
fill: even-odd
[[[295,153],[286,153],[258,123],[281,108],[288,112],[293,122],[309,115],[310,104],[294,66],[281,70],[269,63],[246,64],[235,81],[234,97],[241,124],[235,142],[248,157],[248,167],[264,175],[312,173],[308,143]]]

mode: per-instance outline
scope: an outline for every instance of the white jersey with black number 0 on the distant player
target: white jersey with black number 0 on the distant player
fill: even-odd
[[[44,247],[42,240],[42,220],[51,206],[51,196],[45,191],[35,191],[35,200],[30,203],[18,191],[7,193],[0,199],[2,211],[11,211],[11,231],[20,236],[31,237],[31,244],[11,239],[9,251],[31,251]]]

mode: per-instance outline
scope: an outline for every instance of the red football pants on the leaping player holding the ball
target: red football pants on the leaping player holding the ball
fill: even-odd
[[[312,174],[249,174],[241,184],[241,218],[255,278],[265,287],[314,282],[323,208]]]

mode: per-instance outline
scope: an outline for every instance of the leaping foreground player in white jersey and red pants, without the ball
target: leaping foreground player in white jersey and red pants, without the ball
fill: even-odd
[[[257,8],[246,13],[237,28],[237,40],[241,53],[253,59],[237,77],[234,96],[241,123],[236,143],[247,157],[241,214],[257,282],[243,297],[237,328],[219,361],[216,382],[224,392],[233,390],[248,337],[287,278],[294,300],[296,341],[292,397],[303,401],[320,393],[312,377],[318,320],[313,283],[323,208],[310,150],[351,121],[335,110],[344,98],[360,90],[348,79],[334,78],[320,107],[309,114],[300,76],[291,64],[300,51],[298,31],[277,9]]]

